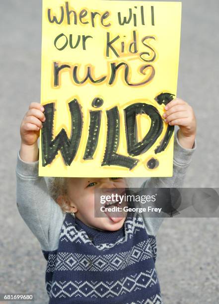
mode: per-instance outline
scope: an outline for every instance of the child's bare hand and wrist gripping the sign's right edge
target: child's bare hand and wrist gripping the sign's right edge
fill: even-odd
[[[176,98],[165,106],[163,114],[170,126],[178,125],[178,140],[182,147],[191,149],[196,136],[196,117],[193,108],[184,100]]]

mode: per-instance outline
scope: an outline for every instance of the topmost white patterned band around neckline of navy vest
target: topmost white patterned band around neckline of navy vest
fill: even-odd
[[[89,245],[95,246],[98,250],[106,250],[109,248],[114,247],[115,245],[122,244],[128,240],[128,238],[133,237],[133,235],[139,231],[140,229],[145,229],[143,224],[142,218],[138,216],[138,214],[132,218],[127,218],[125,222],[125,236],[117,240],[115,243],[103,243],[100,245],[94,245],[89,237],[87,236],[86,232],[83,230],[78,231],[72,223],[68,223],[67,220],[64,221],[60,240],[61,241],[71,241],[75,243],[89,243]]]

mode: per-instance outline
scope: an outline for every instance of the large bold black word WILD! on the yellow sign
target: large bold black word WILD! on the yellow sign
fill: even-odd
[[[159,104],[166,105],[173,99],[170,93],[161,93],[155,100]],[[92,107],[99,108],[103,104],[103,99],[94,98],[92,101]],[[69,139],[66,131],[62,129],[60,133],[53,139],[53,122],[55,103],[48,103],[44,106],[44,114],[46,117],[42,128],[42,165],[46,166],[54,160],[58,152],[60,151],[64,160],[64,163],[68,166],[71,165],[73,159],[77,153],[78,146],[81,140],[82,132],[82,113],[81,106],[77,99],[73,99],[69,102],[69,110],[71,113],[72,125],[71,125],[71,138]],[[86,148],[83,154],[84,160],[93,159],[93,154],[97,148],[99,140],[99,130],[101,124],[101,110],[90,111],[89,117],[89,130]],[[148,133],[142,141],[138,141],[137,135],[137,120],[138,114],[147,114],[151,119],[151,125]],[[130,157],[138,156],[145,153],[156,142],[163,130],[163,120],[158,110],[146,103],[134,103],[124,109],[125,115],[125,131],[127,140],[127,152],[130,156],[125,156],[117,153],[119,140],[120,140],[120,116],[118,107],[106,111],[107,115],[107,142],[103,161],[101,166],[116,165],[121,167],[134,168],[139,159]],[[164,138],[161,140],[158,147],[155,149],[155,154],[162,152],[166,149],[169,140],[173,134],[174,127],[167,127]],[[157,167],[158,160],[151,158],[147,166],[152,169]]]

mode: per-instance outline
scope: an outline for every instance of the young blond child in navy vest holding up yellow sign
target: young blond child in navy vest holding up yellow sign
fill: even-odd
[[[174,135],[173,176],[147,179],[142,187],[182,187],[196,150],[196,118],[181,99],[164,118],[179,125]],[[49,304],[160,304],[155,235],[162,218],[95,218],[94,191],[124,188],[125,178],[54,178],[52,192],[38,176],[37,140],[44,108],[31,103],[21,127],[17,155],[17,207],[40,242]]]

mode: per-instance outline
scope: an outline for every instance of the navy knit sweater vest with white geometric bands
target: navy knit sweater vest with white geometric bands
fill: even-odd
[[[138,214],[117,231],[100,231],[67,213],[58,249],[42,251],[49,304],[162,303],[155,237]]]

